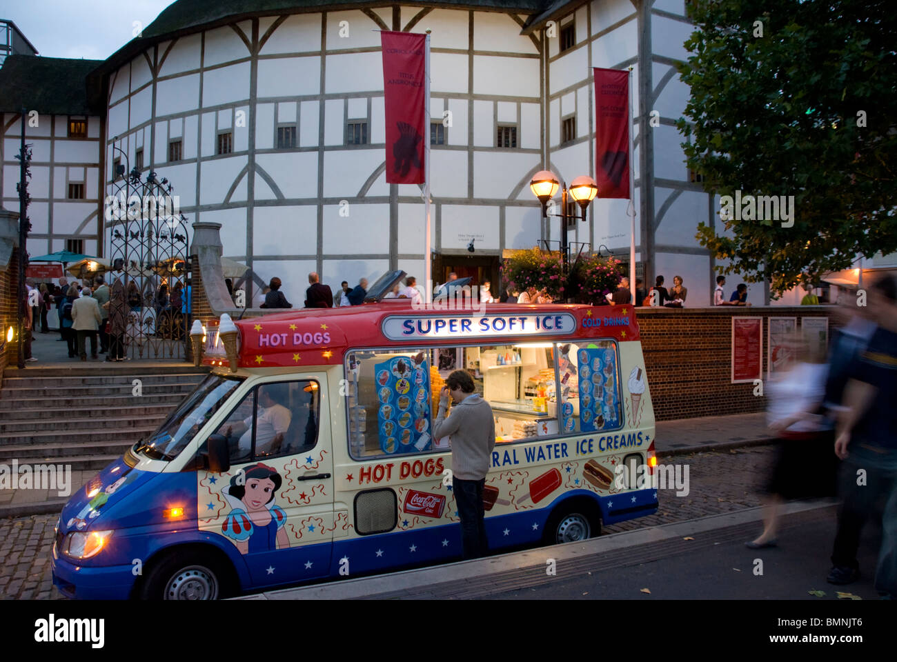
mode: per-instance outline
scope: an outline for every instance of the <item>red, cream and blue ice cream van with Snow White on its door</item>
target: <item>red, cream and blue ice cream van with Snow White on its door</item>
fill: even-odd
[[[211,372],[65,505],[60,591],[213,599],[457,560],[451,440],[432,436],[453,370],[495,418],[492,551],[657,510],[632,480],[655,464],[635,309],[380,301],[401,274],[361,306],[200,320]]]

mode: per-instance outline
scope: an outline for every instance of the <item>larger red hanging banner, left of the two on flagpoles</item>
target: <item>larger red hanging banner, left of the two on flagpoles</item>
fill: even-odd
[[[387,118],[387,182],[423,184],[426,104],[425,34],[380,32]]]

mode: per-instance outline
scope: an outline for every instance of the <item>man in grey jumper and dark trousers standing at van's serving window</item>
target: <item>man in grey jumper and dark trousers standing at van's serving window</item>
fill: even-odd
[[[455,407],[446,417],[448,396]],[[440,392],[440,412],[433,423],[433,438],[451,438],[452,490],[461,518],[464,558],[475,559],[489,551],[483,510],[483,487],[489,459],[495,448],[495,419],[492,407],[474,393],[474,379],[455,370]]]

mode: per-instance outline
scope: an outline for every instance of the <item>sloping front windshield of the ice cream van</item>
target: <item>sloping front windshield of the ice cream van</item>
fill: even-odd
[[[243,378],[209,375],[147,439],[135,444],[135,453],[152,459],[178,457],[196,432],[231,396]]]

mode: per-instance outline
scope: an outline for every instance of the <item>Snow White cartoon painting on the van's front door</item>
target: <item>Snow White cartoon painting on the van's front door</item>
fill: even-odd
[[[231,505],[222,533],[231,538],[239,553],[273,552],[290,546],[283,528],[286,513],[274,505],[281,483],[276,469],[259,462],[233,476],[222,491]]]

